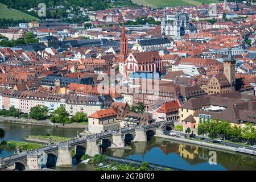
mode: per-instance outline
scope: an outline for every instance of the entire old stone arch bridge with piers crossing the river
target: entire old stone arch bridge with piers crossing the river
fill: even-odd
[[[72,167],[72,148],[75,148],[75,158],[79,160],[84,154],[90,156],[101,154],[102,148],[125,148],[129,142],[147,142],[148,137],[162,134],[173,127],[174,122],[158,122],[86,137],[79,136],[73,140],[61,142],[57,146],[49,145],[32,152],[21,152],[0,158],[0,168],[13,165],[16,170],[41,169],[45,166]],[[43,164],[43,160],[46,160],[46,164]]]

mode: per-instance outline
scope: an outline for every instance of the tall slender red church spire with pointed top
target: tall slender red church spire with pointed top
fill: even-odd
[[[127,36],[125,34],[125,20],[123,20],[120,44],[121,44],[121,49],[120,49],[120,53],[118,56],[118,60],[119,60],[119,63],[124,63],[126,58],[128,57],[128,53],[129,53],[128,52],[128,40],[127,40]]]

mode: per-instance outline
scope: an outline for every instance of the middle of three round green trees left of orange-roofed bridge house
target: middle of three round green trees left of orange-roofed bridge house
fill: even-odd
[[[65,107],[60,106],[55,111],[53,111],[50,121],[53,123],[69,123],[70,119],[68,116],[69,115]]]

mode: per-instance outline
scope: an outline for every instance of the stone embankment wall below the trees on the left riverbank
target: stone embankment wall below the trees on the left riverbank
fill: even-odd
[[[37,126],[48,126],[48,127],[61,127],[66,129],[86,129],[88,125],[83,123],[52,123],[49,120],[37,121],[35,119],[24,119],[24,118],[12,118],[12,117],[0,117],[0,122],[7,123],[18,123],[23,125],[37,125]]]

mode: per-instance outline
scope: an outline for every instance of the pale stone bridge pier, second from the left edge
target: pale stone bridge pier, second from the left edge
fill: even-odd
[[[68,146],[58,148],[57,167],[73,167],[71,151]]]

